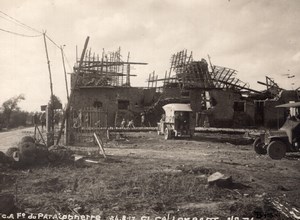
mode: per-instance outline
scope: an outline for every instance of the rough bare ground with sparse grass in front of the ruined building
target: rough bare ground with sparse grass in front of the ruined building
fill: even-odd
[[[108,158],[99,164],[44,165],[30,172],[2,168],[1,190],[13,193],[28,213],[289,219],[271,203],[299,208],[300,155],[275,161],[238,140],[128,134],[106,144]],[[233,184],[208,186],[207,177],[216,171],[231,176]]]

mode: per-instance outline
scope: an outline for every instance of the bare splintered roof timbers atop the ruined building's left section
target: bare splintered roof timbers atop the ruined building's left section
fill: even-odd
[[[129,87],[131,65],[146,65],[147,63],[129,62],[130,53],[124,61],[121,48],[113,52],[105,52],[102,56],[87,51],[79,69],[79,60],[74,66],[74,71],[79,72],[78,86],[85,87]]]

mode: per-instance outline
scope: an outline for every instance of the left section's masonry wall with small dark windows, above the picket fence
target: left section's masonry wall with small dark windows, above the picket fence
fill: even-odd
[[[154,101],[155,89],[137,87],[85,87],[74,91],[72,109],[99,107],[107,112],[108,126],[118,126],[122,118],[140,122],[145,104]],[[128,106],[127,104],[128,103]],[[123,106],[123,107],[122,107]]]

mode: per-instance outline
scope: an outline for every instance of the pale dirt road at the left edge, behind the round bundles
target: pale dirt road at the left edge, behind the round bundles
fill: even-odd
[[[33,132],[34,127],[0,132],[0,151],[5,152],[8,148],[16,145],[23,136],[32,135]]]

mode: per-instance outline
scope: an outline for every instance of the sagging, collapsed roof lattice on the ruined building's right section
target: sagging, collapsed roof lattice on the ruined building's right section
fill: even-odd
[[[210,66],[211,71],[205,59],[194,61],[192,52],[182,50],[172,55],[170,70],[165,73],[163,79],[158,79],[155,72],[149,75],[148,87],[153,87],[154,83],[157,86],[157,82],[163,81],[162,87],[179,85],[182,89],[232,89],[241,93],[259,93],[250,89],[249,84],[236,78],[236,70],[212,64]]]

